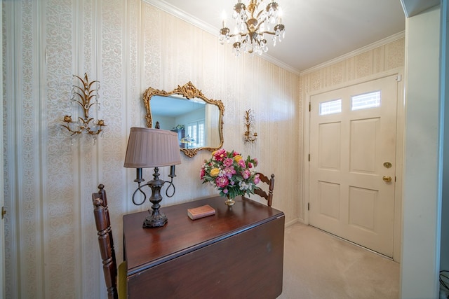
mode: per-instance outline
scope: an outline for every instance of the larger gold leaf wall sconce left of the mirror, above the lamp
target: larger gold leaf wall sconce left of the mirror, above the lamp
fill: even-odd
[[[70,99],[71,106],[81,106],[83,110],[83,116],[79,116],[78,120],[72,120],[72,115],[67,114],[64,116],[64,122],[66,125],[62,125],[65,127],[71,134],[71,136],[76,136],[81,134],[82,132],[86,132],[92,135],[95,139],[95,136],[100,134],[105,127],[105,120],[98,119],[94,120],[93,117],[89,117],[89,111],[92,106],[98,105],[98,110],[100,110],[100,103],[98,102],[98,90],[100,89],[99,81],[91,81],[89,82],[88,76],[84,73],[84,78],[73,75],[81,81],[81,87],[78,85],[73,85],[72,88],[72,98]],[[77,115],[77,113],[76,113]]]

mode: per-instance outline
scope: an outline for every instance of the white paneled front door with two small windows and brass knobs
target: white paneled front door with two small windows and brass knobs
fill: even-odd
[[[390,257],[396,102],[396,75],[310,97],[309,223]]]

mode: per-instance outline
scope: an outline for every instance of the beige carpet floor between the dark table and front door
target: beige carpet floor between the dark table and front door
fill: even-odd
[[[398,297],[398,263],[308,225],[286,228],[279,299]]]

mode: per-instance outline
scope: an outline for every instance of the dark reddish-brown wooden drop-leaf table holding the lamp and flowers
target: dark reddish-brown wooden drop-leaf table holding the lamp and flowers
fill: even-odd
[[[253,200],[210,197],[162,207],[168,223],[142,228],[123,216],[128,298],[276,298],[282,293],[285,215]],[[215,215],[191,220],[209,204]]]

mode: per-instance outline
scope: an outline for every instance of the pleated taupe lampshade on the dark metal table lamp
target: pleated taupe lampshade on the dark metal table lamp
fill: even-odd
[[[124,167],[145,168],[181,164],[177,133],[131,127]]]

